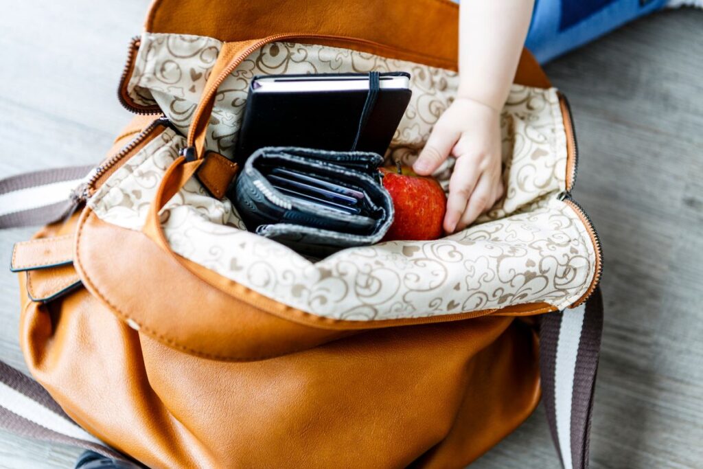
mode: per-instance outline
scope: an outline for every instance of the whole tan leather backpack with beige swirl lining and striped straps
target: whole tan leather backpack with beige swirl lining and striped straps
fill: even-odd
[[[529,52],[506,195],[461,233],[311,262],[224,197],[252,76],[411,72],[389,148],[409,162],[456,92],[457,27],[446,0],[156,0],[120,83],[140,116],[108,157],[0,181],[41,194],[0,226],[60,219],[12,264],[49,394],[0,368],[0,394],[30,399],[0,424],[153,468],[463,467],[542,395],[563,465],[587,467],[602,256],[567,103]]]

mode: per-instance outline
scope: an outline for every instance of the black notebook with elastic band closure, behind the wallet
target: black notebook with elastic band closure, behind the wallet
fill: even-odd
[[[384,155],[410,101],[406,72],[254,77],[235,161],[264,146]]]

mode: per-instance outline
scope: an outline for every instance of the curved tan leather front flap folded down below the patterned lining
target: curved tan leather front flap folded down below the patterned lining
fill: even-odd
[[[105,246],[129,246],[115,255]],[[138,260],[136,260],[138,259]],[[441,317],[345,321],[316,316],[260,295],[160,248],[139,231],[120,228],[86,209],[79,221],[75,266],[85,287],[140,333],[208,359],[253,361],[299,352],[363,330],[458,321],[486,309]],[[552,310],[536,303],[502,313]]]

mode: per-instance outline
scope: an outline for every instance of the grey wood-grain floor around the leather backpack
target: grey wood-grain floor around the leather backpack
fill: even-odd
[[[146,1],[13,2],[0,15],[0,174],[96,162],[127,122],[115,86]],[[703,11],[655,15],[555,61],[572,102],[576,198],[605,248],[594,468],[703,467]],[[15,240],[0,233],[0,266]],[[0,358],[24,368],[15,277],[0,271]],[[1,468],[77,451],[0,432]],[[555,468],[543,411],[472,466]]]

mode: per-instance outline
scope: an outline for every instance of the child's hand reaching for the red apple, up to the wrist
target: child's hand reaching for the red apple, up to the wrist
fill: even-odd
[[[447,156],[456,157],[449,180],[444,231],[469,226],[503,196],[500,113],[469,98],[457,98],[439,117],[413,169],[427,176]]]

